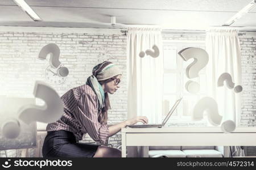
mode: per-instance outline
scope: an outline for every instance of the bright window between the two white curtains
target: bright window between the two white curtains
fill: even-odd
[[[206,75],[205,68],[200,70],[199,77],[189,79],[185,74],[187,66],[193,62],[193,59],[184,61],[179,54],[180,50],[188,47],[197,47],[205,49],[205,44],[202,42],[164,42],[164,82],[163,82],[163,116],[170,111],[175,101],[183,96],[181,103],[176,111],[172,114],[170,122],[182,123],[191,121],[193,107],[196,102],[203,96],[207,95],[206,91]],[[188,80],[193,80],[200,84],[200,92],[191,94],[185,90],[185,83]],[[205,120],[199,121],[205,122]]]

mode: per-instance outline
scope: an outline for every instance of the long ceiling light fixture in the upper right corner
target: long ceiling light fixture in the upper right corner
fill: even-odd
[[[230,26],[234,22],[236,22],[238,19],[240,19],[243,15],[247,14],[252,8],[256,6],[256,0],[251,1],[248,5],[242,8],[239,12],[237,12],[236,15],[232,16],[225,24],[222,26]]]

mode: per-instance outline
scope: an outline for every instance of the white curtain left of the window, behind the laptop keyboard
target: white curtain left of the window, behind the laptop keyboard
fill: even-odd
[[[139,57],[156,45],[160,54]],[[154,51],[154,50],[153,50]],[[128,118],[147,116],[150,123],[162,120],[163,46],[160,28],[129,28],[127,35]]]

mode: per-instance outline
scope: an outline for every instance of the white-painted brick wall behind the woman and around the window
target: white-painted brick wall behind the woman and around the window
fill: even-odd
[[[18,29],[17,29],[18,30]],[[22,29],[23,30],[23,29]],[[49,65],[38,59],[40,49],[46,44],[55,43],[60,48],[60,62],[68,67],[69,75],[63,84],[50,84],[59,95],[70,88],[84,84],[97,63],[105,60],[117,63],[123,70],[123,83],[115,95],[110,95],[112,110],[109,112],[109,124],[121,122],[127,117],[126,90],[126,36],[119,31],[56,31],[47,28],[42,31],[0,31],[0,95],[17,97],[34,97],[35,80],[44,78],[44,70]],[[79,29],[78,29],[79,30]],[[81,33],[82,32],[82,33]],[[163,33],[163,40],[205,40],[205,35]],[[242,49],[242,126],[255,126],[256,117],[256,34],[241,35]],[[174,126],[188,126],[177,124]],[[189,126],[192,126],[189,124]],[[89,141],[89,138],[84,138]],[[110,138],[110,143],[117,147],[121,145],[121,133]],[[15,150],[9,150],[8,156],[15,156]],[[34,151],[30,150],[30,156]],[[0,157],[5,156],[0,152]]]

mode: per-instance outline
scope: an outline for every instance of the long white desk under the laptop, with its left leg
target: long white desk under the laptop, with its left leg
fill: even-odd
[[[256,128],[236,128],[225,134],[220,127],[122,128],[122,157],[126,146],[256,146]]]

